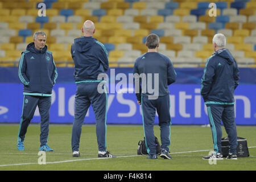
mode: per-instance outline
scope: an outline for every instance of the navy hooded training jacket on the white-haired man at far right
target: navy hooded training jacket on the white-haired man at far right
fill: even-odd
[[[214,52],[205,65],[201,95],[205,104],[233,105],[240,76],[236,60],[228,49]]]

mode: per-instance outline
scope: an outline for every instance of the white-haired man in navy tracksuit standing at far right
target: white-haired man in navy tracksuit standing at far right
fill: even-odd
[[[214,54],[209,57],[201,79],[201,95],[207,105],[214,152],[203,159],[223,159],[221,151],[221,121],[228,134],[230,148],[227,159],[237,159],[237,130],[234,120],[234,89],[240,80],[236,60],[224,48],[226,38],[223,34],[213,37]]]

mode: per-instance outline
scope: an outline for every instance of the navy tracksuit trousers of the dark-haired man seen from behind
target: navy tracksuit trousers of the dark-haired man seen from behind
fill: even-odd
[[[154,122],[155,111],[158,112],[161,148],[169,151],[171,144],[171,115],[170,115],[170,96],[158,97],[156,100],[148,100],[147,96],[142,96],[142,119],[144,127],[144,135],[146,141],[147,152],[150,155],[156,154],[155,135],[154,135]]]

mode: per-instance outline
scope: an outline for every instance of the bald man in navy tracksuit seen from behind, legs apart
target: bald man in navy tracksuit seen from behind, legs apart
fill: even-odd
[[[84,36],[75,39],[71,54],[75,64],[75,81],[77,84],[75,97],[75,117],[72,128],[73,157],[79,157],[79,144],[82,124],[89,106],[92,104],[96,117],[96,135],[98,142],[98,157],[113,158],[106,150],[106,114],[108,94],[98,92],[98,75],[109,68],[108,52],[105,46],[94,39],[94,23],[86,20],[82,27]]]

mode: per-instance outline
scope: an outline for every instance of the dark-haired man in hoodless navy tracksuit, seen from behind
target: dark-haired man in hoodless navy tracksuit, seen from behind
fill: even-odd
[[[159,46],[158,35],[148,35],[146,46],[148,52],[137,58],[133,73],[135,93],[138,104],[142,107],[144,135],[149,154],[147,159],[157,159],[154,135],[155,110],[158,112],[161,131],[162,152],[160,157],[171,159],[168,154],[171,144],[170,92],[168,85],[176,81],[176,72],[171,60],[157,51]],[[150,88],[150,85],[152,85],[152,88]]]

